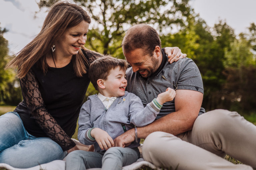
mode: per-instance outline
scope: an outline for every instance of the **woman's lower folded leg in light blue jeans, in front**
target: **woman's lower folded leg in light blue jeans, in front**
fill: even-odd
[[[0,153],[0,162],[15,168],[29,168],[36,165],[62,160],[66,156],[60,145],[47,137],[22,140]]]

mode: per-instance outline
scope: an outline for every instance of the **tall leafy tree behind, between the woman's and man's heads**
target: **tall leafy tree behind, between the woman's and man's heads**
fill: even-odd
[[[40,0],[39,7],[50,7],[58,0]],[[92,14],[93,29],[88,33],[86,47],[92,50],[123,56],[122,37],[134,24],[150,24],[160,34],[166,29],[185,26],[190,15],[189,0],[77,0]]]

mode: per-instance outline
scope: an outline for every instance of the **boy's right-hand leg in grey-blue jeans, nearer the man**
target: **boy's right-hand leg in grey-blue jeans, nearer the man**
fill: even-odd
[[[140,157],[138,148],[111,147],[102,158],[102,170],[121,170],[123,166],[130,165]]]

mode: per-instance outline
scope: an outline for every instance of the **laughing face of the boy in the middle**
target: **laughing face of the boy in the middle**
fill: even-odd
[[[124,96],[125,87],[127,86],[127,80],[125,78],[125,70],[119,66],[111,69],[107,79],[103,80],[105,88],[100,90],[102,95],[106,97]]]

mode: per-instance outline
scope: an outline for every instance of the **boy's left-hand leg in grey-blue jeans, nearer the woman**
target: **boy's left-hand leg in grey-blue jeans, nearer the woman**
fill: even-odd
[[[101,168],[103,153],[75,150],[66,157],[66,170]]]

